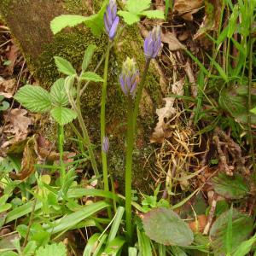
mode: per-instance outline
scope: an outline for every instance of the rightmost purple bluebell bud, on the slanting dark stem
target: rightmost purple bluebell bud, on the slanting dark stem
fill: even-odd
[[[144,40],[144,54],[147,59],[154,59],[160,50],[160,26],[154,26],[153,30],[149,32],[148,37]]]

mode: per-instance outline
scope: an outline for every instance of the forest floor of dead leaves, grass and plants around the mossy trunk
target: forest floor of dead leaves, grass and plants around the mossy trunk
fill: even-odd
[[[166,21],[144,19],[139,24],[143,37],[152,26],[161,26],[162,48],[155,67],[166,95],[162,108],[156,110],[150,137],[157,161],[148,179],[154,180],[154,186],[151,195],[139,195],[143,201],[137,201],[140,205],[137,211],[142,209],[142,212],[138,211],[137,215],[164,207],[167,201],[176,206],[173,210],[198,234],[194,243],[197,247],[192,250],[179,247],[181,251],[175,253],[171,248],[160,254],[153,249],[153,255],[211,255],[212,252],[228,255],[227,251],[234,253],[233,249],[252,236],[254,240],[245,251],[248,253],[251,249],[253,252],[256,241],[252,235],[256,119],[250,113],[256,103],[253,28],[250,18],[244,14],[246,4],[242,5],[242,1],[236,5],[231,1],[224,4],[218,0],[206,1],[208,5],[203,2],[177,0],[166,13]],[[165,2],[155,0],[154,9],[166,12]],[[38,217],[41,213],[37,212],[37,203],[32,203],[35,193],[32,184],[38,177],[31,166],[40,165],[49,154],[56,163],[59,154],[43,136],[33,139],[32,152],[26,149],[27,141],[35,136],[37,115],[22,108],[14,96],[22,85],[36,81],[3,23],[0,23],[0,63],[1,254],[7,248],[19,252],[17,244],[13,244],[15,238],[23,237],[21,247],[32,241],[31,233],[36,234],[34,229],[38,228],[36,224],[32,227],[33,214]],[[75,153],[67,154],[72,157]],[[78,175],[81,172],[77,170]],[[50,177],[45,175],[44,182],[49,184]],[[86,185],[87,189],[95,187],[94,182]],[[44,189],[38,186],[38,190],[44,197]],[[89,204],[97,201],[96,198],[84,196],[80,201]],[[51,200],[49,208],[55,207],[57,211],[58,202]],[[70,203],[67,207],[72,212],[78,206]],[[44,211],[50,209],[46,207]],[[106,214],[103,212],[97,218]],[[41,238],[36,237],[35,241],[45,238],[47,223],[45,217],[38,221],[42,232]],[[104,224],[100,226],[101,230]],[[60,229],[55,241],[63,241],[70,255],[82,255],[84,243],[96,230],[90,224],[88,227],[84,232],[79,225],[73,231],[67,226],[69,231]]]

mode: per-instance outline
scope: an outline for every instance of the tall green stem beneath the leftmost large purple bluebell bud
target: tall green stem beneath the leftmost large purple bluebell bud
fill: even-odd
[[[102,84],[102,106],[101,106],[101,143],[102,143],[102,171],[104,190],[109,191],[108,186],[108,163],[107,154],[103,151],[103,137],[106,136],[106,98],[107,98],[107,86],[108,86],[108,61],[111,44],[108,42],[107,54],[104,67],[104,82]]]

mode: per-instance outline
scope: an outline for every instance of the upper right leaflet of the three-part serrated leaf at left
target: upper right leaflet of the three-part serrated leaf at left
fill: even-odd
[[[58,79],[50,88],[50,100],[59,107],[64,107],[68,104],[68,96],[65,90],[65,79]]]

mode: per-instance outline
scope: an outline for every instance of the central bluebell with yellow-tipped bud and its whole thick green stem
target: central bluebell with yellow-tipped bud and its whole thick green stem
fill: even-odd
[[[124,62],[122,73],[119,77],[121,90],[127,97],[127,135],[126,135],[126,163],[125,163],[125,221],[127,241],[132,241],[131,224],[131,171],[132,171],[132,151],[134,144],[134,125],[133,125],[133,98],[137,90],[139,72],[136,62],[127,58]]]

